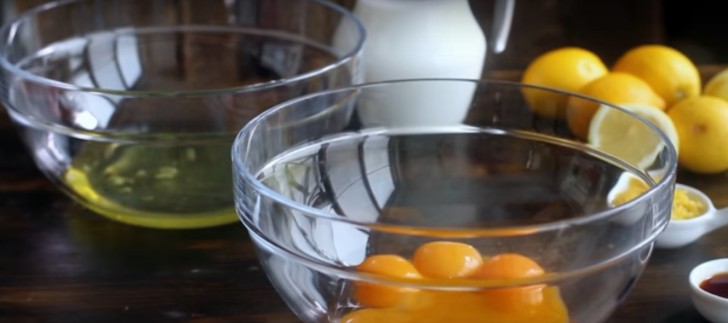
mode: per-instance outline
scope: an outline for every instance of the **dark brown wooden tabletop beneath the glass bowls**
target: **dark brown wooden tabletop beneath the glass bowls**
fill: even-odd
[[[725,175],[681,176],[728,205]],[[687,276],[719,257],[728,257],[728,230],[656,250],[610,322],[704,322]],[[260,270],[242,225],[163,231],[94,215],[36,170],[0,118],[0,322],[180,321],[298,320]]]

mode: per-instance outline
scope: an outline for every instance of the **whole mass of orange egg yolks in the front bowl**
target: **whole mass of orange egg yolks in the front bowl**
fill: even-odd
[[[533,259],[515,253],[484,258],[474,247],[438,241],[420,246],[412,262],[397,255],[373,255],[357,270],[394,278],[434,278],[438,282],[465,280],[523,280],[545,274]],[[543,322],[566,323],[569,314],[555,286],[536,284],[446,291],[383,286],[358,282],[355,298],[362,306],[342,323]]]

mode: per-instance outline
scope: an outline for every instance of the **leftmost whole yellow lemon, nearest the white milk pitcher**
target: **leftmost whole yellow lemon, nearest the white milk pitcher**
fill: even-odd
[[[526,68],[521,82],[574,92],[607,72],[607,67],[594,53],[564,47],[536,57]],[[523,95],[536,114],[548,118],[564,117],[567,95],[538,89],[524,89]]]

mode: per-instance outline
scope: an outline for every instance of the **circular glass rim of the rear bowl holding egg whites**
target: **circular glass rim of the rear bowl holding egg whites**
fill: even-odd
[[[270,88],[276,88],[280,86],[285,86],[287,84],[291,84],[294,82],[298,82],[307,78],[315,77],[317,75],[323,74],[329,70],[339,68],[350,61],[354,60],[360,53],[362,53],[364,48],[364,43],[366,42],[367,34],[366,29],[364,28],[364,24],[359,20],[359,18],[354,15],[351,11],[347,10],[343,6],[340,6],[336,3],[326,1],[326,0],[286,0],[286,1],[304,1],[309,3],[315,3],[319,6],[322,6],[323,8],[327,8],[328,10],[333,10],[334,12],[339,13],[342,17],[345,17],[346,19],[352,21],[354,23],[354,26],[356,28],[356,31],[360,35],[359,41],[356,42],[355,46],[353,46],[352,49],[350,49],[347,53],[342,55],[338,60],[332,64],[328,64],[324,67],[317,68],[311,71],[308,71],[306,73],[297,74],[293,77],[288,78],[281,78],[276,80],[271,80],[267,82],[262,83],[255,83],[250,85],[243,85],[243,86],[233,86],[233,87],[222,87],[222,88],[216,88],[216,89],[206,89],[206,90],[185,90],[185,91],[137,91],[137,90],[113,90],[113,89],[106,89],[106,88],[96,88],[96,87],[85,87],[85,86],[78,86],[67,82],[62,82],[58,80],[54,80],[51,78],[39,76],[35,73],[28,72],[22,68],[19,68],[16,64],[10,62],[8,60],[9,55],[9,45],[13,39],[18,37],[16,34],[17,28],[19,25],[22,25],[26,20],[41,14],[43,12],[48,12],[54,9],[63,8],[68,5],[82,3],[82,2],[91,2],[93,0],[60,0],[60,1],[52,1],[48,2],[42,5],[35,6],[19,15],[11,19],[10,21],[6,22],[5,24],[0,27],[0,68],[10,72],[13,76],[20,77],[24,80],[28,80],[35,84],[40,84],[43,86],[48,86],[56,89],[66,90],[66,91],[77,91],[77,92],[86,92],[86,93],[95,93],[95,94],[105,94],[105,95],[118,95],[118,96],[127,96],[127,97],[190,97],[190,96],[211,96],[211,95],[220,95],[220,94],[230,94],[230,93],[246,93],[246,92],[253,92],[253,91],[259,91],[259,90],[266,90]],[[201,25],[201,24],[180,24],[175,25],[175,27],[193,27],[193,26],[209,26],[209,25]],[[154,28],[152,26],[151,28]],[[275,29],[271,30],[265,30],[263,28],[257,28],[257,27],[238,27],[238,30],[244,31],[245,33],[249,33],[249,31],[256,30],[257,34],[263,34],[266,36],[274,36],[276,38],[281,38],[281,36],[288,35],[287,33],[281,33],[280,31],[277,31]],[[111,30],[111,29],[110,29]],[[133,30],[133,28],[132,28]],[[292,38],[292,37],[291,37]],[[7,104],[7,102],[6,102]]]

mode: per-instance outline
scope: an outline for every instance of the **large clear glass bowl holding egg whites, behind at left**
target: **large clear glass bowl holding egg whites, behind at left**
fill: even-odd
[[[53,1],[0,30],[0,93],[38,167],[81,204],[214,226],[237,220],[235,134],[276,103],[357,83],[364,37],[322,0]]]

